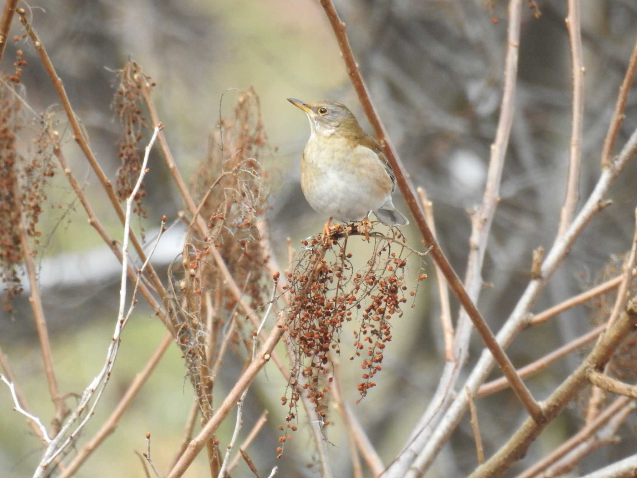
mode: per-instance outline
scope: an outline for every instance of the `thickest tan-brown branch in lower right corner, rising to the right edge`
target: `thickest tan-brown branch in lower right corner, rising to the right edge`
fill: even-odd
[[[546,421],[537,423],[531,418],[513,433],[506,444],[499,449],[489,460],[470,475],[470,478],[497,478],[503,475],[515,461],[526,453],[527,449],[540,433],[551,423],[555,417],[566,407],[575,395],[588,383],[588,373],[603,366],[612,357],[615,349],[622,343],[628,333],[637,326],[637,296],[629,301],[626,312],[606,330],[599,338],[595,347],[576,368],[575,372],[562,382],[555,391],[545,400]]]

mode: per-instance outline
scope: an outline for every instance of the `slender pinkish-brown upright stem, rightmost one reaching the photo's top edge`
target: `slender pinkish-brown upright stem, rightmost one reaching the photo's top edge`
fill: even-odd
[[[580,0],[568,0],[566,17],[568,40],[571,45],[573,76],[573,113],[571,119],[571,148],[569,152],[566,198],[560,212],[557,235],[561,236],[573,221],[580,200],[580,166],[582,163],[582,123],[584,116],[584,67],[582,66],[582,33],[580,31]]]

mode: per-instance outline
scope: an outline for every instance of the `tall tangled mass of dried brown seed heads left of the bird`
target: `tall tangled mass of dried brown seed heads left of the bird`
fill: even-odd
[[[252,336],[244,333],[242,321],[235,319],[236,314],[243,315],[243,310],[225,286],[224,272],[218,268],[211,248],[223,257],[250,307],[262,307],[269,289],[262,281],[267,257],[257,229],[257,221],[266,212],[267,175],[259,160],[267,148],[259,99],[254,91],[244,91],[233,116],[221,120],[213,130],[210,151],[195,175],[193,189],[208,233],[201,235],[196,224],[190,226],[183,250],[183,279],[173,275],[177,284],[173,290],[178,304],[175,321],[179,340],[204,418],[212,400],[213,377],[206,360],[209,340],[213,348],[218,341],[228,340],[230,347],[252,349]],[[210,321],[208,314],[213,314]]]

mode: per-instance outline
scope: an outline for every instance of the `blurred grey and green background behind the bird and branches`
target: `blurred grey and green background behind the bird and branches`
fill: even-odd
[[[462,277],[471,228],[467,210],[482,200],[501,100],[506,35],[506,3],[501,0],[350,0],[335,1],[347,24],[350,42],[371,92],[371,98],[415,185],[424,187],[434,203],[436,229],[443,250]],[[533,249],[552,245],[564,199],[571,134],[571,61],[564,25],[565,2],[538,0],[541,11],[526,4],[522,17],[516,112],[501,185],[501,203],[489,240],[483,290],[478,303],[491,328],[510,314],[530,279]],[[217,0],[125,2],[118,0],[52,0],[45,9],[32,5],[33,25],[66,87],[76,114],[106,174],[114,180],[120,166],[120,126],[111,109],[114,70],[132,58],[157,82],[154,97],[159,117],[183,177],[191,179],[197,162],[206,155],[208,136],[221,115],[227,115],[238,96],[231,88],[253,86],[261,99],[262,118],[273,147],[264,167],[271,172],[269,204],[271,241],[281,266],[287,261],[285,238],[299,249],[299,240],[321,230],[325,217],[311,210],[299,185],[299,162],[309,127],[303,113],[285,98],[304,101],[337,99],[357,114],[371,132],[343,66],[331,27],[315,0]],[[585,117],[582,145],[583,200],[599,175],[599,158],[619,84],[637,32],[637,4],[633,0],[582,2],[582,41],[585,74]],[[14,19],[10,32],[22,34]],[[59,99],[32,45],[11,41],[4,54],[3,74],[12,71],[16,50],[28,65],[22,73],[26,98],[36,112],[57,105]],[[227,91],[227,92],[226,92]],[[225,92],[225,94],[224,94]],[[223,98],[223,101],[221,101]],[[637,96],[626,108],[617,141],[624,144],[637,126]],[[29,128],[27,127],[27,130]],[[61,129],[62,131],[62,129]],[[68,131],[65,152],[71,168],[85,181],[85,190],[111,235],[121,226],[96,177],[80,155]],[[28,152],[28,147],[25,151]],[[147,219],[134,228],[153,236],[162,215],[173,221],[182,201],[156,148],[152,173],[145,180]],[[157,166],[153,166],[157,164]],[[613,206],[590,224],[555,273],[535,310],[597,284],[608,264],[629,249],[637,203],[637,166],[629,164],[613,186]],[[52,180],[52,206],[41,218],[43,232],[38,257],[56,372],[64,392],[80,393],[104,361],[117,317],[119,266],[85,213],[64,175]],[[580,201],[580,206],[583,203]],[[407,211],[396,194],[394,204]],[[419,233],[404,229],[413,247]],[[154,262],[161,277],[182,247],[183,231],[172,229],[162,240]],[[358,243],[361,244],[358,244]],[[350,244],[350,247],[352,245]],[[364,247],[357,241],[353,247]],[[364,251],[364,249],[361,249]],[[363,255],[363,254],[361,254]],[[431,262],[431,261],[429,261]],[[417,275],[415,264],[412,276]],[[359,370],[343,366],[346,400],[368,431],[376,450],[389,463],[404,445],[413,423],[427,406],[444,365],[440,308],[433,267],[421,285],[417,307],[394,322],[378,387],[354,406]],[[34,412],[45,423],[52,414],[27,292],[15,310],[0,313],[0,347],[13,367]],[[454,302],[454,319],[457,305]],[[509,353],[522,366],[589,330],[597,309],[578,307],[520,335]],[[124,333],[116,372],[85,435],[97,430],[159,343],[164,328],[141,306]],[[469,363],[482,345],[473,337]],[[345,361],[350,352],[343,353]],[[571,354],[547,372],[528,380],[534,396],[545,398],[580,361]],[[229,389],[241,359],[229,354],[217,390]],[[345,364],[347,365],[347,364]],[[233,374],[233,372],[235,372]],[[275,370],[266,370],[248,393],[244,429],[264,409],[269,421],[250,456],[262,475],[278,465],[285,477],[318,475],[308,431],[301,430],[286,445],[282,460],[275,447],[283,407],[278,397],[285,383]],[[493,377],[498,375],[493,373]],[[400,393],[397,393],[400,391]],[[219,393],[219,392],[217,392]],[[185,378],[180,352],[173,347],[125,414],[115,433],[94,453],[77,476],[143,475],[135,450],[145,449],[145,433],[153,436],[152,453],[166,470],[178,444],[193,393]],[[585,397],[574,402],[531,447],[513,472],[522,470],[582,424]],[[69,402],[70,403],[70,402]],[[479,400],[478,417],[487,456],[524,419],[509,391]],[[0,470],[6,477],[29,475],[41,454],[13,406],[6,387],[0,387]],[[340,419],[329,430],[328,450],[338,476],[350,476],[347,440]],[[222,444],[232,433],[234,419],[220,429]],[[328,427],[330,428],[330,427]],[[615,461],[634,452],[634,430],[620,430],[619,445],[603,447],[582,462],[578,471]],[[633,442],[634,443],[634,442]],[[80,438],[79,445],[83,441]],[[468,417],[454,433],[427,476],[459,477],[476,466]],[[470,451],[470,453],[468,453]],[[631,452],[632,451],[632,452]],[[73,454],[73,453],[71,453]],[[202,476],[205,454],[185,476]],[[267,471],[266,471],[267,470]],[[512,472],[512,474],[513,474]],[[243,463],[237,476],[250,472]]]

